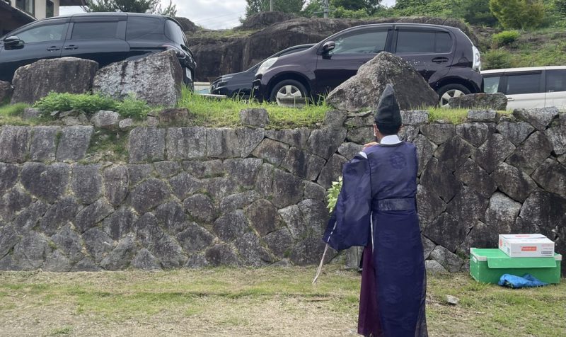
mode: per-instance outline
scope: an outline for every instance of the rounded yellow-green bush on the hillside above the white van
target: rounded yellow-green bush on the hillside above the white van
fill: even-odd
[[[490,10],[505,29],[536,28],[544,19],[541,0],[490,0]]]

